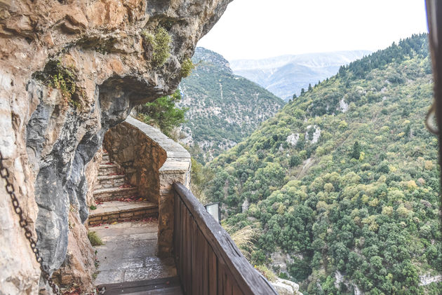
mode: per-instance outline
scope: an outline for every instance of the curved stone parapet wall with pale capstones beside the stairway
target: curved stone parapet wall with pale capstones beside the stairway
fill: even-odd
[[[173,252],[174,198],[172,184],[190,186],[190,154],[159,130],[128,117],[111,128],[103,146],[114,163],[125,170],[129,184],[159,207],[158,254]]]

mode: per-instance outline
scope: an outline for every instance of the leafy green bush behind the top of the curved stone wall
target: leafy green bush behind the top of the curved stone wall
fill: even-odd
[[[161,132],[171,137],[173,130],[185,123],[187,108],[175,107],[175,103],[180,100],[180,90],[176,90],[172,95],[157,98],[154,102],[147,102],[139,108],[138,119],[146,124],[158,126]]]

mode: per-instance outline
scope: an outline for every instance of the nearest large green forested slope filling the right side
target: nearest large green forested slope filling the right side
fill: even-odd
[[[210,164],[223,224],[304,294],[441,294],[427,34],[342,67]]]

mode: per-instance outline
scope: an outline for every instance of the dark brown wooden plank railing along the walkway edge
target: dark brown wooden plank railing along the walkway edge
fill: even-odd
[[[182,184],[175,188],[174,256],[186,295],[277,295]]]

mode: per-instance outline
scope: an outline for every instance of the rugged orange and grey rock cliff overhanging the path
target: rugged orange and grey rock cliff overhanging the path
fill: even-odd
[[[182,60],[228,3],[0,0],[0,148],[51,271],[63,262],[69,269],[93,267],[76,257],[81,251],[69,250],[91,253],[87,241],[71,241],[86,236],[86,165],[105,132],[136,104],[175,90]],[[154,62],[143,38],[159,27],[171,39],[163,64]],[[40,270],[3,185],[0,190],[1,291],[33,294]],[[91,287],[84,273],[69,270]]]

